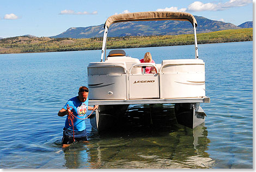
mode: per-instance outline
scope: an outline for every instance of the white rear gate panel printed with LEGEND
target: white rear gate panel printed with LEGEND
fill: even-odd
[[[159,74],[130,75],[130,99],[159,98]]]

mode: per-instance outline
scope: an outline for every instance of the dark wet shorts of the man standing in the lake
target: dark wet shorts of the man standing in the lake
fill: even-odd
[[[75,131],[75,141],[87,141],[86,129],[83,131]],[[63,128],[62,144],[71,144],[73,142],[73,130]]]

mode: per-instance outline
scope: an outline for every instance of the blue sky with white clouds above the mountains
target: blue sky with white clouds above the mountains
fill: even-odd
[[[189,12],[238,26],[253,21],[253,5],[253,0],[0,0],[0,37],[55,36],[71,27],[98,26],[114,14],[142,11]]]

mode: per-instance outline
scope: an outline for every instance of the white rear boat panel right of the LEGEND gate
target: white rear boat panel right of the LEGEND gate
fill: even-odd
[[[160,84],[161,98],[205,97],[203,60],[163,60]]]

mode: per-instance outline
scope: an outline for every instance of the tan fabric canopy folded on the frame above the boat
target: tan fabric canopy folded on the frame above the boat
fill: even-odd
[[[109,28],[111,24],[117,22],[128,22],[128,21],[155,21],[155,20],[181,20],[189,21],[192,26],[196,24],[197,20],[192,14],[187,12],[171,12],[171,11],[148,11],[148,12],[132,12],[126,14],[118,14],[108,17],[105,22],[105,26]],[[105,28],[104,26],[104,28]]]

